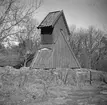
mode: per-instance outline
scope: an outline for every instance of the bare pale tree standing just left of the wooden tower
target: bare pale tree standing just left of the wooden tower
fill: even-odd
[[[19,40],[20,54],[24,58],[24,66],[28,61],[28,55],[35,54],[40,44],[40,32],[36,26],[37,24],[29,20],[24,25],[22,33],[16,35]]]

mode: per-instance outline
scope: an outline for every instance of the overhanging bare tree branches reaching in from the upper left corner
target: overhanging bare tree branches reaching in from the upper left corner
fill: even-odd
[[[31,1],[28,2],[29,5],[25,5],[21,0],[0,1],[0,42],[8,36],[20,33],[23,24],[29,21],[28,17],[31,17],[42,3],[41,0]]]

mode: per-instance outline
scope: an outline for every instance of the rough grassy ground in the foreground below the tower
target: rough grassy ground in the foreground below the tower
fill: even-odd
[[[73,76],[72,70],[1,68],[0,105],[107,105],[107,84],[93,80],[77,85]]]

